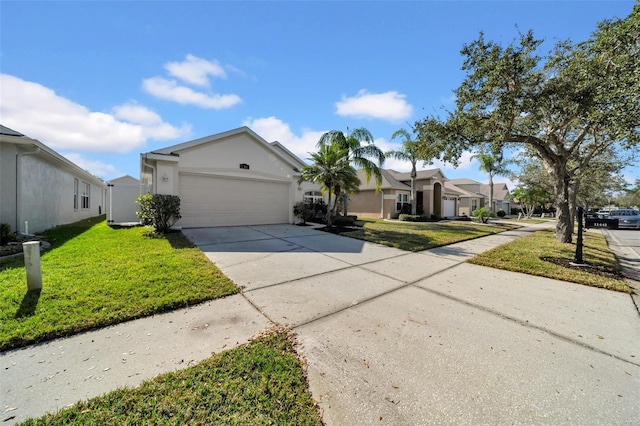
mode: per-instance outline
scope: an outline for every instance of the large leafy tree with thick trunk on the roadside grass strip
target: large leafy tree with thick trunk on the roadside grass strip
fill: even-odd
[[[534,150],[553,178],[560,242],[571,242],[570,187],[580,170],[640,140],[638,34],[636,4],[627,18],[601,22],[584,42],[559,42],[544,58],[531,31],[506,47],[481,33],[461,51],[466,76],[441,136],[458,156],[493,143]]]

